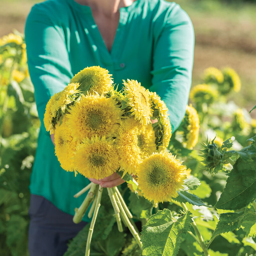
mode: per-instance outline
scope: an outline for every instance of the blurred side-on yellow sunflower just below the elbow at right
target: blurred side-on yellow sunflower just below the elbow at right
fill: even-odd
[[[190,104],[186,108],[186,114],[181,124],[184,132],[184,141],[182,143],[184,148],[193,149],[196,146],[200,128],[199,123],[196,109]]]

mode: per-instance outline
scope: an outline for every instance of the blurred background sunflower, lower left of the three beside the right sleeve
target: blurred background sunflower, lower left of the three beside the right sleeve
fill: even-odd
[[[218,98],[219,92],[209,84],[197,84],[190,91],[189,98],[200,105],[202,103],[212,104]]]

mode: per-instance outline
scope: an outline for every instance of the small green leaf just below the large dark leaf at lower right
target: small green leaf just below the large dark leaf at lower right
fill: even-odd
[[[241,226],[240,218],[243,214],[244,212],[228,212],[220,214],[220,220],[212,236],[239,229]]]

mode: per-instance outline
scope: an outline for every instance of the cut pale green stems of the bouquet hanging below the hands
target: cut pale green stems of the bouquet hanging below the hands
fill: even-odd
[[[90,190],[89,190],[90,189]],[[85,212],[88,210],[90,204],[92,203],[91,209],[88,212],[88,218],[92,218],[89,233],[86,242],[85,256],[90,255],[90,246],[92,240],[93,228],[97,219],[97,215],[100,208],[100,200],[102,195],[103,188],[100,185],[90,183],[88,186],[79,191],[74,197],[81,196],[84,192],[88,191],[87,196],[84,198],[83,203],[79,208],[75,209],[75,215],[73,217],[74,223],[79,223],[82,221]],[[135,226],[132,220],[132,213],[129,211],[127,205],[124,202],[124,199],[119,192],[117,187],[107,188],[108,196],[110,198],[111,204],[114,208],[116,223],[119,232],[123,232],[122,221],[124,225],[130,230],[132,236],[134,237],[137,244],[142,248],[142,244],[140,242],[140,232]],[[92,215],[93,214],[93,215]]]

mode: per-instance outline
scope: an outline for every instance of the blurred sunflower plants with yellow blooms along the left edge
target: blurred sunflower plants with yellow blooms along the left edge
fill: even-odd
[[[0,46],[0,255],[28,255],[28,189],[40,121],[23,39]]]

